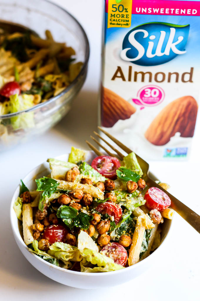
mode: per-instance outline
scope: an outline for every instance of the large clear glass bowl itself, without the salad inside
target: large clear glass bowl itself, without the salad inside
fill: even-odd
[[[41,135],[70,110],[71,102],[81,89],[87,74],[89,42],[79,22],[66,10],[46,0],[0,0],[0,22],[28,27],[45,38],[49,29],[57,42],[66,42],[76,51],[76,61],[83,62],[74,81],[60,94],[30,109],[0,116],[0,151]],[[75,62],[76,62],[75,61]],[[11,121],[30,116],[34,122],[14,130]],[[22,123],[20,123],[22,124]]]

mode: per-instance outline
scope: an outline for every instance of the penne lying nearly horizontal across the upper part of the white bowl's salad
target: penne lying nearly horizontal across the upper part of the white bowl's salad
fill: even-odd
[[[60,183],[58,186],[59,189],[65,189],[65,190],[81,189],[84,194],[90,193],[92,197],[97,197],[98,199],[104,200],[104,193],[97,187],[94,187],[93,185],[66,182],[63,180],[56,180],[56,181]]]

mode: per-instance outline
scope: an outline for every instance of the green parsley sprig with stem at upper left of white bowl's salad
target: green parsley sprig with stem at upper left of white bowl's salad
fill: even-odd
[[[38,205],[38,209],[43,211],[45,198],[50,197],[57,190],[59,183],[56,180],[47,177],[37,179],[35,182],[37,184],[37,191],[43,191]]]

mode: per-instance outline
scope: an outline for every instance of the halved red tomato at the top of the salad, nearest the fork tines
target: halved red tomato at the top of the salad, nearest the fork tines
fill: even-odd
[[[91,164],[101,175],[109,179],[116,178],[116,169],[120,167],[120,162],[115,157],[99,156],[96,157]]]

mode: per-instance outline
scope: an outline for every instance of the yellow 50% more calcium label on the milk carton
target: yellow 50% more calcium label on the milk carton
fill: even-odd
[[[131,25],[132,0],[108,1],[108,28],[128,28]]]

